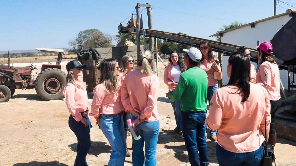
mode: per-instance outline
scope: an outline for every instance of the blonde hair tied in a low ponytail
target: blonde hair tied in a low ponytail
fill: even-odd
[[[141,66],[141,72],[152,75],[151,62],[153,61],[152,53],[149,50],[142,50],[138,57],[138,66]]]

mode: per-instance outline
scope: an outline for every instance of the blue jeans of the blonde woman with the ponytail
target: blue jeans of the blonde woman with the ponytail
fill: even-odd
[[[134,117],[132,119],[135,119]],[[133,138],[133,166],[155,166],[156,148],[159,133],[159,121],[142,122],[137,126],[141,138]],[[144,147],[145,143],[145,156]],[[145,159],[146,157],[146,159]]]

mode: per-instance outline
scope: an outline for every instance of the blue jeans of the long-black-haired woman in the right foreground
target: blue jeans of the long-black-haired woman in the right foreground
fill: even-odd
[[[216,156],[220,166],[259,166],[263,157],[262,146],[253,152],[229,152],[220,145],[216,145]]]

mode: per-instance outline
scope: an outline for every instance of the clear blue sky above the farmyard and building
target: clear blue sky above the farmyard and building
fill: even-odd
[[[282,1],[295,3],[291,5],[296,6],[295,0]],[[0,0],[0,51],[36,47],[69,48],[69,40],[75,38],[80,31],[93,28],[116,35],[119,23],[133,12],[137,2],[152,5],[154,29],[183,32],[212,40],[215,38],[209,36],[216,33],[222,25],[229,25],[231,21],[249,23],[273,16],[274,5],[274,0]],[[277,5],[277,14],[292,8],[279,3],[281,7]],[[141,14],[144,28],[148,28],[146,9]],[[128,20],[129,18],[123,23]]]

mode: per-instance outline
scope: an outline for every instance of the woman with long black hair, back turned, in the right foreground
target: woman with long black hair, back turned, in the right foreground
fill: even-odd
[[[216,156],[219,165],[259,166],[262,143],[271,122],[270,100],[265,88],[250,82],[250,60],[234,52],[227,65],[229,83],[218,89],[210,101],[205,123],[218,130]],[[260,97],[258,97],[260,96]]]

